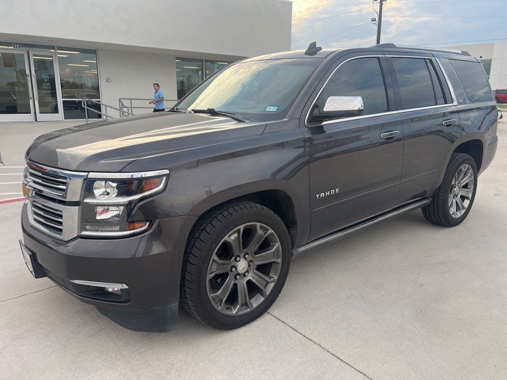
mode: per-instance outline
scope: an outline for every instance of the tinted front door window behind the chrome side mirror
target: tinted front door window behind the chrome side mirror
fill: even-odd
[[[330,96],[360,96],[363,115],[387,111],[384,78],[378,58],[358,58],[345,62],[335,71],[315,104],[323,108]]]

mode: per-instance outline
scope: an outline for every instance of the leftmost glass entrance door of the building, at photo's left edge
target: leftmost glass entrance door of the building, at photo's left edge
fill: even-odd
[[[0,49],[0,121],[33,121],[28,54]]]

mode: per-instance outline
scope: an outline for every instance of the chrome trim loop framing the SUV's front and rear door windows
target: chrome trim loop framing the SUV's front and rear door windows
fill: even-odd
[[[351,118],[332,119],[332,120],[327,120],[327,121],[324,121],[324,122],[321,122],[321,123],[318,123],[318,124],[309,125],[308,124],[308,120],[310,118],[310,111],[312,110],[312,108],[313,108],[315,102],[317,101],[318,97],[320,96],[320,93],[322,92],[322,90],[325,88],[325,86],[327,86],[327,84],[330,81],[331,77],[333,77],[333,74],[335,73],[335,71],[338,70],[341,65],[343,65],[344,63],[346,63],[348,61],[351,61],[353,59],[375,58],[375,57],[376,58],[379,58],[379,57],[419,58],[419,59],[422,58],[422,59],[434,59],[434,60],[436,60],[438,62],[438,64],[439,64],[439,66],[440,66],[440,69],[444,73],[444,78],[445,78],[445,80],[447,82],[447,86],[449,86],[449,91],[451,92],[451,96],[452,96],[453,102],[452,103],[446,103],[446,104],[431,105],[431,106],[427,106],[427,107],[409,108],[409,109],[398,109],[398,110],[395,110],[395,111],[372,113],[371,115],[354,116],[354,117],[351,117]],[[315,96],[315,99],[313,100],[310,108],[308,109],[308,112],[306,113],[305,126],[306,127],[316,127],[316,126],[320,126],[320,125],[327,125],[327,124],[332,124],[332,123],[341,123],[341,122],[346,122],[346,121],[350,121],[350,120],[367,119],[367,118],[373,118],[373,117],[384,116],[384,115],[395,115],[397,113],[399,114],[399,113],[405,113],[405,112],[411,112],[411,111],[419,111],[419,110],[424,110],[424,109],[449,107],[451,105],[455,106],[457,104],[458,104],[458,101],[456,99],[456,94],[454,93],[454,88],[452,87],[451,81],[449,80],[449,77],[447,76],[447,73],[444,70],[444,67],[442,66],[442,64],[440,63],[440,60],[437,57],[425,57],[425,56],[414,56],[414,55],[395,55],[395,54],[361,55],[361,56],[356,56],[356,57],[351,57],[351,58],[346,59],[345,61],[343,61],[342,63],[340,63],[338,66],[336,66],[335,69],[333,70],[333,72],[331,72],[331,74],[329,75],[328,79],[325,81],[324,85],[322,86],[322,88],[317,93],[317,96]]]

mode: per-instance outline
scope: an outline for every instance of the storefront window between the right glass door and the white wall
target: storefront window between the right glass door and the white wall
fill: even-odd
[[[100,100],[95,50],[57,47],[64,119],[84,119],[81,98]],[[75,101],[72,99],[80,99]],[[95,117],[95,112],[89,112]]]

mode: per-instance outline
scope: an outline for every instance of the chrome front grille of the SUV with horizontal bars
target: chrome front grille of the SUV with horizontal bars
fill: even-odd
[[[35,229],[60,240],[78,236],[79,206],[86,172],[71,172],[28,162],[24,185],[28,190],[28,219]]]

